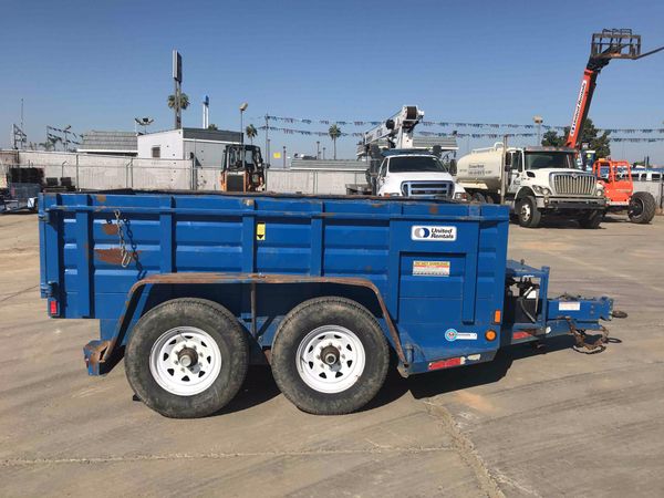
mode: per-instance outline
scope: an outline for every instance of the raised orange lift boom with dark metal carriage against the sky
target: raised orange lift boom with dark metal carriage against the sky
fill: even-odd
[[[593,33],[590,44],[590,58],[583,71],[581,90],[579,91],[572,124],[566,141],[567,147],[579,148],[580,146],[581,131],[588,117],[598,75],[602,69],[612,59],[636,60],[660,52],[661,50],[664,50],[664,46],[642,54],[641,35],[632,34],[632,30],[611,29],[602,30],[601,33]]]

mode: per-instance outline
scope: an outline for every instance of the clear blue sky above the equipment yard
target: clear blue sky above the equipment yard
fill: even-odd
[[[538,114],[568,125],[591,33],[632,28],[644,51],[664,45],[661,0],[0,0],[0,147],[21,121],[21,98],[28,139],[38,143],[46,125],[133,131],[134,117],[151,116],[151,131],[173,127],[173,49],[183,54],[191,101],[184,125],[201,125],[209,95],[210,122],[239,129],[242,102],[245,125],[257,127],[266,114],[381,121],[403,105],[418,105],[426,121],[530,124]],[[600,127],[664,127],[664,52],[611,62],[590,117]],[[329,137],[271,132],[270,139],[289,156],[315,154],[317,141],[332,154]],[[340,138],[338,157],[354,157],[356,142]],[[461,138],[459,154],[492,142]],[[263,132],[257,143],[264,145]],[[664,142],[612,144],[614,158],[645,155],[664,165]]]

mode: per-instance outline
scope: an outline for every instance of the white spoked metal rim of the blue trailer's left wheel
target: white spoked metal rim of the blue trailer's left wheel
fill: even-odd
[[[169,393],[194,396],[219,376],[221,352],[207,332],[195,326],[178,326],[164,332],[153,344],[149,371],[157,384]]]

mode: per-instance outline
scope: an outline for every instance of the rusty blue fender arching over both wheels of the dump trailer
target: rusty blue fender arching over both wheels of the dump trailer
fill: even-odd
[[[407,365],[408,362],[404,355],[401,339],[396,326],[392,321],[385,301],[378,288],[367,279],[347,278],[347,277],[308,277],[292,274],[262,274],[262,273],[160,273],[146,277],[132,286],[125,301],[125,308],[121,314],[112,338],[104,341],[92,341],[84,347],[85,363],[91,375],[107,373],[118,361],[118,345],[122,344],[125,334],[128,332],[129,324],[143,295],[143,290],[147,286],[177,286],[177,284],[237,284],[248,283],[257,284],[293,284],[293,283],[336,283],[349,287],[362,287],[369,289],[375,294],[376,301],[387,325],[387,332],[398,360]],[[256,303],[252,299],[252,323],[256,323]],[[139,317],[136,317],[139,318]]]

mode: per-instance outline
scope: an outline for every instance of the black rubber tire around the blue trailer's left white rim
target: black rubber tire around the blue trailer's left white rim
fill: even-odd
[[[174,394],[159,385],[151,372],[153,345],[167,331],[193,326],[205,331],[220,352],[220,370],[205,391],[194,395]],[[204,299],[174,299],[152,309],[134,326],[125,351],[129,385],[152,409],[172,418],[211,415],[228,404],[247,374],[247,333],[222,305]]]

